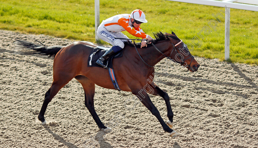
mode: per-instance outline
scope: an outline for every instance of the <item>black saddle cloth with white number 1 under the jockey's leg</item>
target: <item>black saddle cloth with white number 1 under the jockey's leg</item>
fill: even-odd
[[[103,48],[101,46],[97,46],[96,48],[94,48],[88,57],[88,67],[102,67],[96,64],[96,61],[109,49],[110,48],[106,48],[106,47]],[[123,50],[120,50],[117,54],[112,55],[108,59],[108,68],[113,68],[113,65],[111,62],[113,58],[118,58],[122,56],[123,56]]]

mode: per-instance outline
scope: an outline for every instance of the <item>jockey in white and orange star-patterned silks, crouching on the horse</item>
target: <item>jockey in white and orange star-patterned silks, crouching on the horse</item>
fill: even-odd
[[[131,14],[119,14],[113,17],[110,17],[106,20],[103,20],[97,30],[97,35],[100,39],[110,43],[111,47],[106,53],[100,57],[96,63],[98,65],[107,68],[105,65],[106,60],[114,53],[120,51],[124,47],[126,40],[120,40],[115,38],[126,38],[129,39],[126,35],[120,31],[127,31],[131,35],[140,37],[142,39],[152,40],[150,35],[147,35],[140,28],[142,23],[147,23],[145,19],[145,14],[142,10],[136,9]],[[141,48],[147,46],[147,41],[142,41]]]

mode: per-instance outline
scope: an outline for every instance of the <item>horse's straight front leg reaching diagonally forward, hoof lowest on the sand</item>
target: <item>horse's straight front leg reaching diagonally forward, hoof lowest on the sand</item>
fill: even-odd
[[[139,94],[139,92],[141,92],[141,94]],[[162,119],[162,117],[160,116],[160,113],[158,111],[158,109],[155,107],[155,105],[151,102],[151,99],[149,97],[149,95],[145,92],[145,91],[141,91],[141,90],[134,90],[132,91],[132,93],[134,95],[137,95],[137,97],[141,100],[141,102],[143,103],[143,105],[145,107],[147,107],[147,109],[149,109],[151,111],[151,113],[158,119],[158,121],[160,122],[162,128],[164,131],[170,133],[170,137],[175,137],[178,136],[178,133],[176,131],[174,131],[173,129],[169,128],[169,126],[164,122],[164,120]],[[171,107],[170,107],[171,108]]]

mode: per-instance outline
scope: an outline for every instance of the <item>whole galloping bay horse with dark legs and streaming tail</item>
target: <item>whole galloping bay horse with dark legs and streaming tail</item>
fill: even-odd
[[[123,57],[113,59],[113,68],[116,74],[117,83],[122,91],[129,91],[136,95],[139,100],[157,117],[164,131],[168,132],[171,137],[178,135],[173,127],[174,114],[171,109],[169,96],[154,84],[154,65],[163,58],[180,63],[188,68],[190,72],[195,72],[200,66],[194,57],[190,54],[186,44],[180,40],[174,32],[172,34],[157,32],[153,33],[155,39],[151,41],[152,46],[140,48],[135,43],[125,43],[123,48]],[[70,80],[78,80],[85,94],[85,106],[91,113],[93,119],[100,129],[110,131],[98,117],[94,109],[95,84],[107,89],[115,89],[109,78],[108,69],[100,67],[88,67],[87,61],[89,54],[95,44],[85,41],[71,43],[68,46],[45,46],[36,43],[30,43],[21,39],[16,39],[16,44],[23,50],[23,54],[41,54],[54,57],[53,62],[53,83],[45,93],[45,99],[41,107],[38,119],[42,124],[46,124],[44,117],[47,105],[58,91],[64,87]],[[144,88],[145,85],[150,87],[149,90]],[[162,97],[167,107],[168,121],[165,123],[158,109],[151,102],[148,95],[151,94]],[[144,91],[142,91],[144,90]]]

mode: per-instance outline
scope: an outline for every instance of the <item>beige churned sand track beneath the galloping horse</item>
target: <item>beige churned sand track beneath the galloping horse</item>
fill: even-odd
[[[45,35],[24,35],[0,30],[0,147],[84,147],[99,132],[84,106],[83,89],[70,81],[49,103],[45,118],[37,123],[45,92],[52,83],[53,59],[14,54],[16,37],[47,46],[68,45],[68,39]],[[95,109],[104,124],[117,123],[102,136],[96,147],[257,147],[258,146],[258,67],[196,57],[198,72],[174,65],[166,75],[156,65],[158,86],[170,96],[174,130],[170,138],[158,120],[139,104],[127,110],[129,92],[96,86]],[[166,105],[150,95],[163,120]],[[115,116],[121,113],[119,119]],[[97,138],[95,138],[97,139]]]

